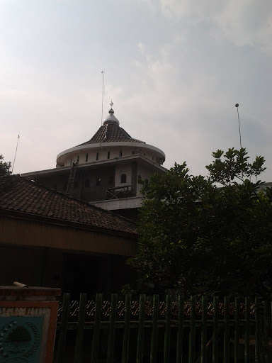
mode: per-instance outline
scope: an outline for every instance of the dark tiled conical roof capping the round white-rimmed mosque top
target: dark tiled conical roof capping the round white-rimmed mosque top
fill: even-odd
[[[144,141],[133,139],[123,128],[120,128],[117,123],[106,123],[98,128],[91,140],[86,141],[86,143],[82,143],[80,145],[119,142],[145,144]]]

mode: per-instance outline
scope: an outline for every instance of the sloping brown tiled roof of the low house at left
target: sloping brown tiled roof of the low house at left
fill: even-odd
[[[105,233],[130,234],[137,238],[136,226],[131,220],[40,186],[20,175],[0,177],[1,214],[4,211],[24,213],[34,220],[35,217],[63,220],[76,223],[79,228],[103,229]]]

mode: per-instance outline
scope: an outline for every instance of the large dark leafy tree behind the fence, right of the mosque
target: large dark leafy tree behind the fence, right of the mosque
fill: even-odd
[[[193,177],[184,162],[143,186],[138,251],[129,262],[142,289],[272,291],[272,190],[257,181],[263,157],[250,163],[244,148],[212,156],[208,177]]]

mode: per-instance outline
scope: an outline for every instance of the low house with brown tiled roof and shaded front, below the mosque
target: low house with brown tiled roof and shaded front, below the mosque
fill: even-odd
[[[131,220],[11,175],[0,177],[0,285],[117,292],[135,279]]]

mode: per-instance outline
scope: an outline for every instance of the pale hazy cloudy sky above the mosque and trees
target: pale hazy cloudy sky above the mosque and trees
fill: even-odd
[[[0,154],[55,167],[110,109],[132,138],[207,174],[212,152],[265,158],[272,181],[271,0],[1,0]],[[18,135],[20,138],[18,140]]]

